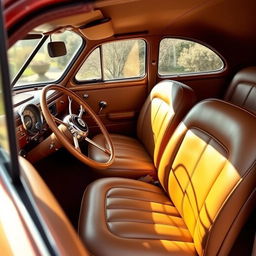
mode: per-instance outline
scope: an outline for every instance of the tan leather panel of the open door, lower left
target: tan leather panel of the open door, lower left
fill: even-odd
[[[28,186],[60,255],[89,255],[63,210],[34,167],[22,157],[19,158],[19,162],[21,178]]]

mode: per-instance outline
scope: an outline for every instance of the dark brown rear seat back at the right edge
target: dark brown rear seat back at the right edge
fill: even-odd
[[[239,71],[231,81],[224,99],[256,113],[256,67]]]

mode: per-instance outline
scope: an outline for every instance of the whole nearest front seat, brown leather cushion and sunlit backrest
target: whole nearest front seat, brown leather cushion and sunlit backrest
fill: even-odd
[[[227,255],[255,203],[255,130],[256,117],[237,106],[197,104],[161,158],[164,191],[118,178],[88,188],[79,223],[88,249],[94,255]]]

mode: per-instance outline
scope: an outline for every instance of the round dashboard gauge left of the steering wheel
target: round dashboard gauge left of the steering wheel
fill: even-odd
[[[42,130],[43,118],[36,105],[29,104],[20,113],[24,129],[29,135],[36,135]]]

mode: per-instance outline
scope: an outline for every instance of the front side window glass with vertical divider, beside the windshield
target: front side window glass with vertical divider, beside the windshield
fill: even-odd
[[[96,48],[86,59],[77,81],[120,80],[145,75],[146,43],[144,40],[122,40]]]

